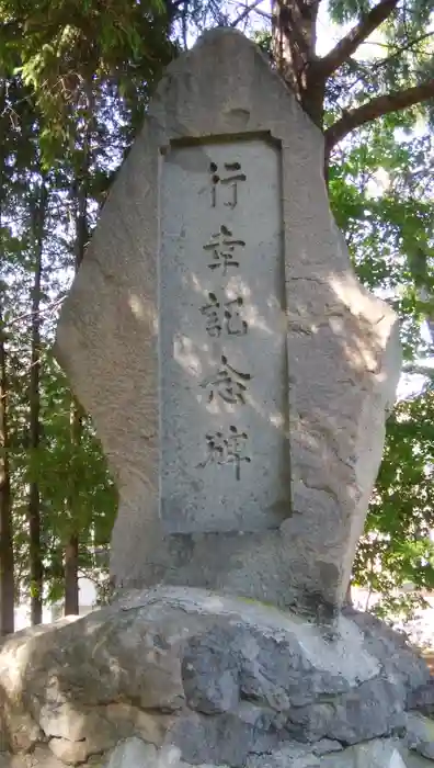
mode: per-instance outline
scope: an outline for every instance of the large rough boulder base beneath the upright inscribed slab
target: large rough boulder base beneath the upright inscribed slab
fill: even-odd
[[[433,765],[433,723],[408,711],[434,700],[429,669],[359,613],[331,631],[205,590],[137,591],[10,636],[0,680],[0,768]]]

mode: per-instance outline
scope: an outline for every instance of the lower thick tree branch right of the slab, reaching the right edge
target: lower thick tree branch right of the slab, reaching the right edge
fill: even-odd
[[[355,110],[344,112],[341,120],[338,120],[334,125],[326,131],[328,153],[354,128],[358,128],[361,125],[370,123],[370,121],[390,112],[404,110],[429,99],[434,99],[434,79],[413,88],[407,88],[404,91],[392,91],[386,95],[376,97]]]

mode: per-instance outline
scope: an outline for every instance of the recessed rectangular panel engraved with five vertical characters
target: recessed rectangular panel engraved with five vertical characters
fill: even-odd
[[[277,528],[289,515],[278,148],[172,147],[160,205],[164,529]]]

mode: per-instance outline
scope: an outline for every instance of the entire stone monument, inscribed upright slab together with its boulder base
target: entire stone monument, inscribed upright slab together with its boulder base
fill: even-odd
[[[320,133],[242,35],[169,67],[56,349],[118,485],[121,589],[0,644],[0,768],[432,767],[426,664],[340,610],[397,320],[353,273]]]

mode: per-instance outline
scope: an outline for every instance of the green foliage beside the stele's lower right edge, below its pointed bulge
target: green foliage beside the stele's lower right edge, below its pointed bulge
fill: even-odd
[[[410,613],[434,589],[434,397],[423,391],[389,419],[367,533],[354,566],[357,585],[381,595],[379,611]],[[414,592],[397,594],[413,585]]]

